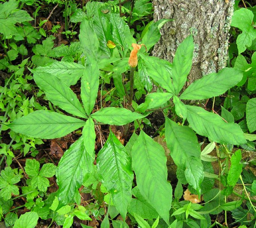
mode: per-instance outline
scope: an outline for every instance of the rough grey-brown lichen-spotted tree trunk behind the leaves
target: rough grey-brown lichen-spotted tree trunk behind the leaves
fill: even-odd
[[[153,0],[155,21],[167,18],[153,55],[172,62],[177,46],[189,35],[194,38],[191,84],[205,74],[226,66],[234,0]]]

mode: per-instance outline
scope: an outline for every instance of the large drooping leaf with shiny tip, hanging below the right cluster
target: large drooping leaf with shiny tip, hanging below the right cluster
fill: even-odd
[[[201,195],[200,185],[204,179],[204,170],[195,132],[166,118],[165,138],[174,163],[185,171],[186,180],[196,189],[198,195]]]

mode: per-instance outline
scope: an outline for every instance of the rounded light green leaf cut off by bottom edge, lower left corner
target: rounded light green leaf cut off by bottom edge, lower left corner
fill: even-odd
[[[36,212],[26,212],[15,221],[13,228],[34,228],[37,225],[38,219],[39,217]]]

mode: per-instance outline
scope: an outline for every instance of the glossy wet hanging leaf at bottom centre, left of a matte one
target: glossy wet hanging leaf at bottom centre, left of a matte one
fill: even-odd
[[[133,180],[131,159],[111,131],[103,148],[98,152],[97,166],[103,185],[111,192],[114,205],[125,219],[131,201]]]

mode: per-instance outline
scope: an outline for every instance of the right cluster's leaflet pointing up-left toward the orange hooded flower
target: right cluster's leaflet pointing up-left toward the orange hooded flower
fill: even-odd
[[[163,63],[167,61],[162,61],[162,59],[153,56],[146,56],[143,54],[141,54],[140,57],[145,62],[146,70],[149,76],[161,87],[174,94],[170,68],[163,67]]]

